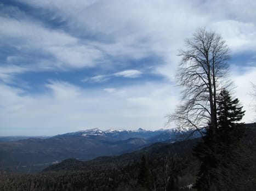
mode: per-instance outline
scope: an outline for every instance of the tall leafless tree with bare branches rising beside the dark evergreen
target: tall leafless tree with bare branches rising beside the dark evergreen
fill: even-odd
[[[201,134],[209,125],[212,134],[217,130],[217,97],[229,68],[229,48],[219,34],[198,29],[185,40],[187,50],[182,57],[177,80],[182,88],[182,100],[169,121],[180,128],[192,128]]]

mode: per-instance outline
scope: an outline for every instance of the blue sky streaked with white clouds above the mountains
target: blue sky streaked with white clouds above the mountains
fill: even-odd
[[[168,126],[175,73],[199,27],[230,48],[229,77],[253,122],[256,1],[0,0],[0,136]]]

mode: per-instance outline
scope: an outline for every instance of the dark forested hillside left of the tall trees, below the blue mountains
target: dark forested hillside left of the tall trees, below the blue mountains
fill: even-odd
[[[195,181],[198,164],[191,153],[198,141],[157,143],[133,153],[88,162],[67,159],[40,174],[2,174],[2,184],[14,190],[144,190],[143,182],[157,190],[186,186]]]

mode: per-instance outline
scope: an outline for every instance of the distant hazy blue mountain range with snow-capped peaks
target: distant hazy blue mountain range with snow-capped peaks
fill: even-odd
[[[178,129],[103,131],[95,128],[46,139],[0,142],[0,163],[2,168],[12,171],[38,171],[66,158],[90,160],[99,156],[116,156],[155,142],[183,140],[190,133]]]

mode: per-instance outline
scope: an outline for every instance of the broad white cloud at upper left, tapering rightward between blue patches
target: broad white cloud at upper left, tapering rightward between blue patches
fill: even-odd
[[[2,43],[12,45],[18,55],[10,52],[8,63],[27,60],[31,68],[63,70],[95,67],[104,57],[99,49],[81,44],[79,39],[64,31],[53,31],[37,22],[8,17],[0,17],[0,22]],[[33,60],[28,60],[32,55],[35,55]]]

